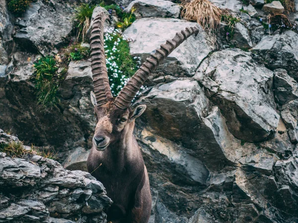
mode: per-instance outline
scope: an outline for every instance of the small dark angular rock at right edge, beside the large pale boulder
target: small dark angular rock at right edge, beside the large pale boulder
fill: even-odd
[[[282,105],[298,98],[298,83],[284,69],[274,70],[274,89]]]

